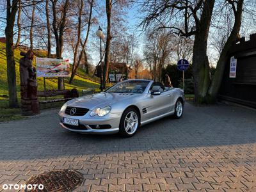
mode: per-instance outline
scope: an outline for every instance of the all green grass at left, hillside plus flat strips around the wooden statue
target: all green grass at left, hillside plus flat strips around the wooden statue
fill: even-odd
[[[45,51],[35,51],[35,56],[38,57],[46,57],[47,52]],[[20,49],[15,49],[14,51],[15,56],[15,67],[16,67],[16,84],[17,84],[17,96],[20,102],[20,72],[19,72],[19,60],[20,56]],[[35,65],[35,59],[33,61],[33,65]],[[8,108],[8,84],[7,84],[7,76],[6,76],[7,66],[6,66],[6,54],[5,54],[5,44],[0,42],[0,122],[6,122],[9,120],[19,120],[22,118],[26,118],[20,115],[20,109],[10,109]],[[82,69],[78,70],[80,76],[76,76],[73,84],[68,84],[69,78],[65,78],[65,89],[72,89],[76,88],[81,95],[82,90],[86,88],[93,88],[99,90],[99,83],[95,83],[95,81],[91,81],[89,79],[83,78],[86,77],[85,72]],[[81,77],[82,76],[82,77]],[[96,79],[96,78],[94,78]],[[38,91],[44,90],[44,78],[38,77]],[[58,87],[58,78],[46,78],[46,89],[52,90],[57,89]],[[44,98],[40,98],[44,99]],[[50,98],[49,98],[50,99]],[[57,108],[60,107],[63,102],[56,102],[51,104],[42,104],[40,109],[47,109],[47,108]]]

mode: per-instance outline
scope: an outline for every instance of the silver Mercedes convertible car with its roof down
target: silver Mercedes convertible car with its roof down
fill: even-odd
[[[79,133],[133,136],[140,125],[164,116],[180,118],[184,93],[150,80],[126,80],[94,95],[69,100],[60,109],[60,125]]]

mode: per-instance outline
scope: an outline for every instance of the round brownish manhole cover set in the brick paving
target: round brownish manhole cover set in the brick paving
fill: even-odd
[[[76,170],[53,170],[32,176],[26,181],[27,188],[25,191],[72,191],[82,182],[83,175]],[[39,186],[39,184],[41,185]],[[31,186],[33,186],[32,189]]]

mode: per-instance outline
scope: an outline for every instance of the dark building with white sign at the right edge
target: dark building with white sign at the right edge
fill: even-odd
[[[241,38],[229,51],[220,99],[256,108],[256,34]]]

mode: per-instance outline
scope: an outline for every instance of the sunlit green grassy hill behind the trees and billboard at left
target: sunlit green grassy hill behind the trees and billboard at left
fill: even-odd
[[[45,51],[35,51],[35,56],[45,57]],[[17,84],[17,95],[20,98],[20,81],[19,81],[19,60],[20,60],[20,49],[15,49],[15,62],[16,62],[16,84]],[[35,59],[33,61],[35,65]],[[0,42],[0,108],[6,108],[8,106],[8,84],[7,84],[7,75],[6,75],[6,54],[5,54],[5,44]],[[76,88],[81,93],[81,90],[86,88],[99,88],[99,84],[91,81],[89,79],[83,78],[84,71],[79,69],[79,76],[76,76],[73,84],[68,84],[68,78],[65,78],[65,89]],[[86,76],[84,76],[86,77]],[[44,79],[43,77],[37,78],[38,91],[44,90]],[[57,78],[46,79],[46,88],[57,89]]]

